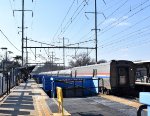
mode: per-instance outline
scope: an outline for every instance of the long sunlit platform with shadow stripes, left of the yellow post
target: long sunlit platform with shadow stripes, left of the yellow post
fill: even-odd
[[[11,89],[8,96],[0,100],[0,116],[59,116],[59,113],[53,113],[47,104],[52,99],[33,79],[29,79],[27,83],[20,83]],[[57,101],[55,103],[53,107],[57,109]]]

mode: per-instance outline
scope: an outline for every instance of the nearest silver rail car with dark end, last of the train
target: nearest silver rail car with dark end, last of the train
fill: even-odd
[[[104,89],[112,92],[130,90],[135,85],[134,63],[126,60],[112,60],[90,66],[75,67],[73,77],[93,76],[104,81]]]

